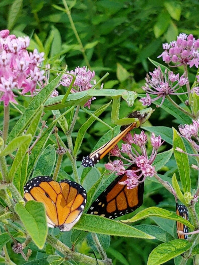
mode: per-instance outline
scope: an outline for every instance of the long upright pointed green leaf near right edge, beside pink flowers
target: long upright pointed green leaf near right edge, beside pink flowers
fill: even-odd
[[[180,175],[180,180],[183,186],[183,191],[191,191],[191,178],[190,178],[190,166],[188,155],[176,151],[176,147],[181,148],[186,152],[183,139],[180,137],[178,132],[173,128],[173,148],[174,148],[174,157],[176,164],[178,166],[178,171]]]

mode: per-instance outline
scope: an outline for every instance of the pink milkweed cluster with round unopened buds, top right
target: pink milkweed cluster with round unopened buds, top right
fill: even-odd
[[[165,63],[172,62],[174,65],[171,67],[177,67],[180,65],[189,65],[192,67],[195,65],[198,68],[199,65],[199,39],[195,39],[192,34],[180,33],[176,41],[169,43],[163,43],[162,47],[164,51],[158,58],[162,57]]]

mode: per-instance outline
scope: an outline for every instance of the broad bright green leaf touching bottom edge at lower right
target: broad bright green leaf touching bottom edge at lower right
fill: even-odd
[[[159,265],[190,249],[192,243],[185,239],[174,239],[157,246],[149,254],[147,265]]]

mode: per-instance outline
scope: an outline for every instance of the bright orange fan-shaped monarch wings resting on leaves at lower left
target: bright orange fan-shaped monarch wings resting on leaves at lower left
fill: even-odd
[[[24,186],[26,201],[43,202],[49,227],[69,231],[80,219],[86,204],[86,191],[68,179],[56,182],[49,176],[38,176]]]

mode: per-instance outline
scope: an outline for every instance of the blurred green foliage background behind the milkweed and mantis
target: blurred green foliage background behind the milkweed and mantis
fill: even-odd
[[[67,1],[67,4],[91,69],[95,70],[97,78],[102,77],[106,72],[110,73],[105,81],[105,88],[126,88],[141,93],[140,87],[145,82],[146,72],[154,68],[147,58],[157,60],[157,56],[162,52],[163,42],[176,39],[176,36],[181,32],[192,33],[195,37],[199,37],[199,2],[196,0],[73,0]],[[58,0],[1,0],[0,27],[1,29],[10,29],[11,33],[16,34],[16,36],[24,36],[24,34],[30,36],[32,39],[29,49],[37,48],[40,52],[44,51],[46,54],[45,63],[50,63],[51,68],[63,69],[67,64],[68,69],[71,70],[86,63],[68,16],[61,8],[63,8],[63,3]],[[177,71],[181,72],[182,70],[179,68]],[[195,69],[191,69],[192,74],[195,73],[194,71]],[[192,74],[190,74],[190,80],[193,80]],[[58,90],[60,94],[64,93],[63,87]],[[30,98],[22,99],[20,97],[19,100],[25,107],[31,101]],[[95,111],[108,100],[107,98],[95,100],[91,110]],[[140,108],[142,108],[141,104],[136,101],[132,109]],[[1,105],[1,128],[2,109]],[[103,116],[103,120],[108,124],[111,124],[110,109],[111,107]],[[126,103],[122,102],[120,116],[124,117],[130,111],[131,108],[127,108]],[[11,114],[12,127],[19,118],[19,114],[14,108],[11,109]],[[45,114],[45,119],[49,117],[52,117],[51,112]],[[86,119],[87,115],[80,112],[73,133],[74,139]],[[154,112],[150,123],[154,126],[162,125],[163,119],[164,125],[177,127],[178,121],[161,109]],[[79,154],[77,166],[80,166],[82,156],[92,150],[98,139],[106,131],[107,128],[101,123],[95,122],[93,124],[85,135],[81,148],[83,153]],[[139,131],[140,129],[137,129],[137,132]],[[61,131],[60,136],[66,142],[66,137]],[[169,144],[164,145],[164,147],[165,150],[171,148]],[[149,151],[151,148],[148,146]],[[62,169],[71,173],[71,166],[67,158],[63,160]],[[100,167],[98,169],[100,170]],[[178,174],[173,157],[161,173],[170,177],[173,173]],[[192,169],[191,175],[194,177]],[[192,183],[195,184],[194,178]],[[140,210],[150,206],[175,210],[174,204],[171,195],[160,184],[146,180],[144,203]],[[134,213],[120,219],[127,219],[133,215]],[[136,224],[157,224],[176,238],[175,222],[171,220],[151,218]],[[54,229],[53,233],[58,235],[58,229]],[[70,245],[70,233],[67,233],[68,238],[62,238],[62,241],[67,245]],[[12,253],[10,242],[7,246],[12,260],[16,264],[23,264],[23,258]],[[107,255],[113,259],[113,263],[116,265],[143,265],[146,264],[152,249],[160,243],[159,240],[112,237]],[[30,260],[43,258],[47,254],[54,254],[55,252],[50,245],[47,245],[44,250],[38,250],[33,243],[31,245],[31,249],[35,250],[33,250]],[[89,245],[92,246],[91,243]],[[90,253],[94,257],[89,245],[84,240],[77,246],[77,249],[81,253]],[[97,257],[99,257],[98,254]],[[135,263],[132,263],[132,260]],[[175,264],[179,264],[178,262],[176,259]],[[68,263],[63,262],[63,264]],[[73,264],[76,263],[73,262]],[[174,261],[169,261],[167,264],[174,264]]]

